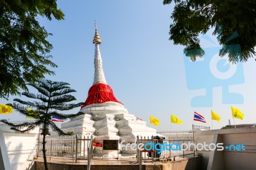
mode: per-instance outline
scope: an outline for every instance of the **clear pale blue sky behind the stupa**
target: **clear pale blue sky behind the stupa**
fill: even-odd
[[[244,113],[244,120],[236,119],[236,124],[256,123],[254,59],[237,65],[236,69],[239,71],[234,74],[232,81],[212,81],[217,78],[207,75],[210,73],[209,70],[213,69],[209,63],[192,63],[195,64],[194,68],[189,68],[186,72],[190,64],[184,60],[183,47],[173,45],[173,42],[168,40],[169,27],[172,24],[172,4],[163,5],[163,1],[153,0],[77,0],[58,1],[58,7],[65,13],[65,20],[50,22],[40,19],[47,31],[53,34],[48,40],[54,46],[51,51],[52,61],[58,65],[58,68],[52,68],[56,75],[47,76],[47,79],[70,83],[71,88],[77,91],[73,93],[77,102],[86,100],[88,89],[93,82],[92,40],[96,19],[102,40],[100,50],[106,80],[115,97],[125,105],[129,113],[147,121],[149,127],[170,130],[170,114],[174,114],[183,121],[183,124],[172,124],[173,130],[191,129],[194,111],[202,114],[207,121],[194,122],[195,125],[211,127],[213,109],[221,116],[221,123],[214,121],[213,128],[221,128],[227,125],[229,119],[234,124],[230,105]],[[207,50],[209,53],[217,51],[218,43],[211,32],[202,36],[201,44],[205,49],[210,49]],[[221,62],[217,64],[224,65]],[[228,66],[219,66],[223,68],[220,72],[226,72],[230,68]],[[217,71],[215,69],[211,72]],[[198,74],[200,76],[193,77]],[[199,86],[198,84],[202,84],[202,87],[189,88],[191,85]],[[241,94],[243,101],[237,104],[239,99],[227,96],[230,103],[223,104],[223,84],[229,91]],[[206,107],[203,101],[201,106],[195,107],[191,104],[191,98],[204,95],[204,86],[207,91],[212,91],[211,106]],[[13,98],[10,97],[10,102]],[[8,102],[0,99],[0,103]],[[77,111],[79,108],[72,112]],[[150,125],[150,115],[158,118],[161,125]],[[8,115],[1,114],[0,119],[26,118],[14,112]]]

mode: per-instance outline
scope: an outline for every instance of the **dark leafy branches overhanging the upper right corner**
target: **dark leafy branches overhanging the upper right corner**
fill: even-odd
[[[200,47],[199,34],[214,28],[222,46],[220,56],[228,54],[233,63],[247,61],[255,55],[256,46],[256,1],[241,0],[174,0],[175,7],[171,18],[170,40],[184,45],[184,53],[191,60],[204,56]],[[164,4],[172,0],[164,0]],[[220,27],[221,26],[221,27]],[[241,46],[240,49],[232,48]],[[236,46],[234,46],[236,45]],[[188,50],[193,53],[187,52]]]

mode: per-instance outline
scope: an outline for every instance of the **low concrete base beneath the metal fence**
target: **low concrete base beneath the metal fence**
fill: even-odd
[[[65,162],[66,161],[66,162]],[[48,164],[49,170],[71,170],[71,169],[86,169],[87,161],[80,160],[79,162],[67,162],[67,160],[59,160],[58,162],[51,161]],[[36,170],[44,170],[44,162],[35,162]],[[116,159],[96,159],[93,160],[92,170],[139,170],[139,164],[136,162],[136,158],[120,158]],[[142,162],[142,170],[202,170],[202,158],[201,157],[190,157],[190,158],[179,158],[175,162],[155,162],[155,163],[144,163]]]

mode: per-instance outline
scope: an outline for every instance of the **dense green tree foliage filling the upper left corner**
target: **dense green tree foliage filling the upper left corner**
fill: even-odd
[[[43,79],[54,72],[51,62],[51,43],[37,21],[38,17],[62,20],[63,12],[56,0],[0,0],[0,98],[28,91],[26,83]]]

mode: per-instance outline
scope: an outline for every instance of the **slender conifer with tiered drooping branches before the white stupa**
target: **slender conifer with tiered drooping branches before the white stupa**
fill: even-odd
[[[40,134],[43,135],[43,153],[45,169],[47,169],[46,155],[45,155],[45,136],[51,135],[49,129],[51,128],[54,132],[59,135],[73,135],[73,132],[63,132],[58,128],[54,122],[52,122],[52,116],[58,116],[63,120],[70,118],[76,118],[77,116],[84,114],[78,112],[77,114],[61,114],[58,111],[68,111],[76,107],[80,107],[84,103],[70,104],[76,100],[75,97],[69,95],[69,93],[76,92],[74,89],[70,89],[67,82],[54,82],[49,80],[38,81],[35,84],[29,84],[33,88],[36,88],[40,94],[35,95],[33,93],[24,92],[22,95],[36,99],[34,102],[26,102],[18,98],[14,99],[12,105],[13,109],[18,111],[24,116],[29,116],[35,119],[35,122],[26,122],[22,124],[13,124],[8,120],[1,120],[11,127],[12,130],[19,133],[26,133],[30,130],[40,127]],[[28,111],[27,108],[31,109]]]

